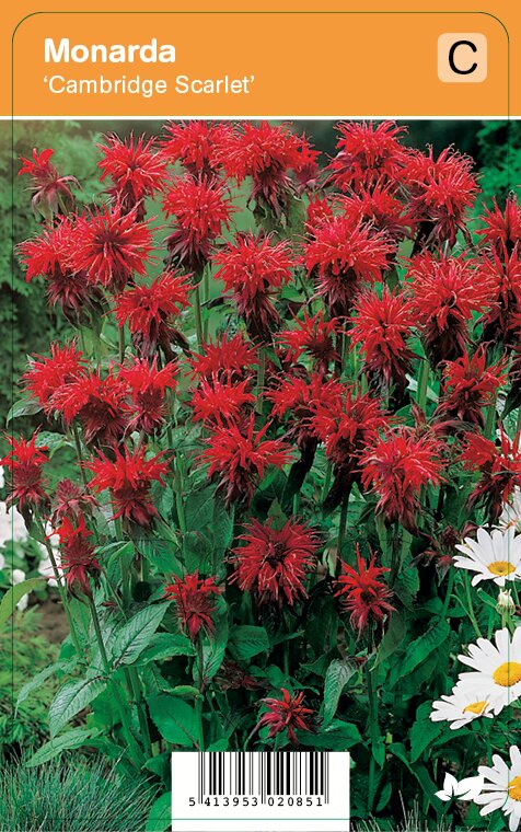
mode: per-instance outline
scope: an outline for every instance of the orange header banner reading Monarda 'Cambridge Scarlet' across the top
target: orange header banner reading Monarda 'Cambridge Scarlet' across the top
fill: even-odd
[[[22,2],[18,16],[2,12],[4,21],[12,14],[2,115],[521,115],[514,4],[164,5],[91,2],[81,11],[55,0],[45,11]]]

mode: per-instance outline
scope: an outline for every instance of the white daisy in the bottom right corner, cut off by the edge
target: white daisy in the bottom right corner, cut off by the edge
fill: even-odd
[[[510,832],[516,832],[521,822],[521,751],[511,746],[510,765],[499,754],[493,755],[493,766],[481,765],[477,770],[485,778],[485,785],[474,801],[483,806],[482,816],[500,809],[509,819]]]

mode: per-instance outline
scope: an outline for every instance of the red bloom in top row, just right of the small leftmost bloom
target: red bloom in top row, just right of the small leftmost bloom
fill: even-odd
[[[124,213],[137,209],[136,219],[144,217],[143,200],[164,189],[166,161],[154,152],[154,139],[130,137],[121,140],[111,132],[106,137],[107,145],[99,145],[103,158],[97,166],[103,171],[100,180],[107,176],[112,180],[114,200],[120,205]]]

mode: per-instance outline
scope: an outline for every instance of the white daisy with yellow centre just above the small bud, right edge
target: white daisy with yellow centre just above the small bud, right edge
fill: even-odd
[[[465,538],[456,548],[463,555],[454,557],[454,566],[476,573],[473,586],[494,580],[498,587],[505,587],[506,580],[521,578],[521,534],[516,536],[513,528],[494,529],[491,534],[478,529],[477,541]]]

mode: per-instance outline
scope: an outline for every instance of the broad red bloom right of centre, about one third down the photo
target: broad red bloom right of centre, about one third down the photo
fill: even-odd
[[[382,279],[393,251],[385,234],[357,226],[349,217],[334,217],[315,230],[304,262],[308,271],[316,275],[316,293],[324,298],[332,317],[349,313],[361,280]]]

